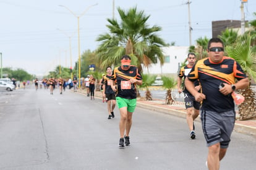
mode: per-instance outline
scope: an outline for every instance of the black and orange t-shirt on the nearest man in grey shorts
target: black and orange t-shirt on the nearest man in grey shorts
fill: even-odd
[[[225,96],[219,91],[220,83],[231,85],[235,83],[235,79],[241,80],[245,77],[247,76],[241,66],[233,58],[226,56],[218,64],[211,62],[209,58],[202,59],[187,75],[190,81],[200,81],[202,93],[206,96],[201,109],[219,113],[234,109],[232,96]]]

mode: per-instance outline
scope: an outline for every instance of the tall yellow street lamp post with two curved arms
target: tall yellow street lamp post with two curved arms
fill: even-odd
[[[90,9],[91,7],[96,6],[96,5],[98,5],[98,3],[93,4],[91,6],[88,6],[87,9],[85,9],[85,11],[83,11],[82,14],[80,14],[80,15],[75,15],[75,13],[73,11],[71,11],[68,7],[59,5],[61,7],[65,7],[71,14],[73,14],[75,17],[77,17],[77,32],[78,32],[78,46],[79,46],[79,49],[78,49],[79,50],[79,88],[81,87],[81,83],[80,83],[80,79],[81,79],[81,54],[80,54],[79,19],[80,19],[80,17],[82,17],[85,14],[85,12],[88,11],[88,9]]]

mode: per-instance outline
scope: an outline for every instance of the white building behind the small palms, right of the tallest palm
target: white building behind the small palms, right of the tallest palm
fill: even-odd
[[[160,62],[151,64],[148,69],[143,69],[144,74],[177,74],[179,72],[179,66],[181,62],[184,62],[189,53],[189,46],[169,46],[163,48],[164,64],[160,65]]]

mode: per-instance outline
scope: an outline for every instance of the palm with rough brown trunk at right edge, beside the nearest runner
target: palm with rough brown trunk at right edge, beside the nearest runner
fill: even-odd
[[[247,35],[244,41],[234,43],[233,46],[227,46],[226,51],[241,65],[250,80],[256,80],[256,53],[252,52],[250,43],[251,37]],[[255,94],[250,84],[245,90],[239,90],[239,93],[245,98],[244,102],[238,106],[239,119],[246,120],[256,117]]]

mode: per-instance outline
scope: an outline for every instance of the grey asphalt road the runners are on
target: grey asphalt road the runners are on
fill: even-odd
[[[136,108],[131,146],[118,148],[119,114],[65,91],[0,91],[0,169],[207,169],[200,123]],[[221,169],[255,169],[256,137],[234,132]]]

